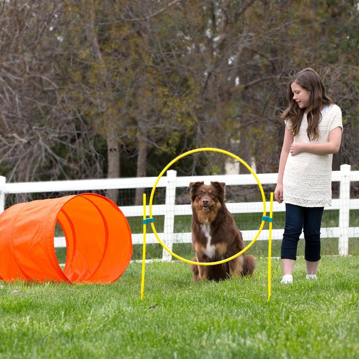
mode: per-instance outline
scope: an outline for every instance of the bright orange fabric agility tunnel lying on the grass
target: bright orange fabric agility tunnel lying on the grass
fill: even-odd
[[[56,222],[66,238],[64,269],[55,254]],[[98,194],[19,203],[0,215],[0,279],[5,281],[112,283],[131,256],[125,215]]]

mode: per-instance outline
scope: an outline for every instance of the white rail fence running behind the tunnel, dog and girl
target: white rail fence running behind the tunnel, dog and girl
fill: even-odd
[[[257,174],[261,184],[274,185],[277,179],[277,173]],[[153,188],[157,177],[140,178],[114,178],[114,179],[86,179],[78,181],[53,181],[53,182],[29,182],[29,183],[6,183],[6,178],[0,176],[0,213],[4,211],[5,199],[7,194],[14,193],[42,193],[42,192],[70,192],[70,191],[95,191],[105,189],[133,189],[133,188]],[[172,250],[174,243],[191,243],[191,233],[174,233],[174,217],[180,215],[191,215],[192,210],[189,204],[175,204],[176,188],[188,187],[190,182],[210,181],[225,182],[227,186],[257,185],[255,177],[252,174],[235,175],[215,175],[215,176],[176,176],[176,171],[168,170],[165,176],[162,176],[156,188],[166,188],[166,201],[163,205],[152,205],[152,216],[164,216],[164,232],[157,234],[162,242]],[[359,209],[359,199],[350,198],[350,183],[359,181],[359,171],[350,171],[349,165],[342,165],[340,171],[332,172],[332,181],[340,183],[340,197],[332,200],[332,206],[325,210],[338,210],[339,218],[337,226],[322,228],[322,237],[338,238],[338,254],[348,255],[349,237],[359,237],[359,227],[349,227],[350,210]],[[266,211],[269,216],[270,199],[266,198]],[[149,198],[147,203],[149,202]],[[227,203],[228,210],[232,213],[263,213],[263,202],[250,203]],[[129,217],[143,217],[143,206],[119,206],[124,215]],[[285,211],[284,204],[273,203],[273,222],[275,222],[275,212]],[[147,205],[147,216],[149,216]],[[261,222],[258,223],[258,229]],[[142,219],[141,219],[142,226]],[[150,226],[150,224],[148,224]],[[268,228],[265,226],[264,228]],[[252,241],[257,235],[257,230],[242,231],[243,237],[247,241]],[[258,241],[268,240],[269,230],[262,230],[258,236]],[[303,234],[302,234],[303,235]],[[283,229],[272,230],[272,240],[281,240]],[[143,234],[132,234],[133,244],[143,243]],[[146,243],[158,243],[153,233],[147,233]],[[65,237],[54,238],[55,247],[66,247]],[[164,261],[170,261],[171,255],[164,250]]]

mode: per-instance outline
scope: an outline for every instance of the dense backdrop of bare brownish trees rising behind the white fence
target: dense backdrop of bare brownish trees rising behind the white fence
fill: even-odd
[[[286,86],[307,66],[343,110],[334,166],[357,168],[357,17],[353,2],[3,1],[0,171],[144,176],[204,146],[276,171]]]

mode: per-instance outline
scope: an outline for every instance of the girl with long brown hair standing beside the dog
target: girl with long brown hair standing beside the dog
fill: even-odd
[[[320,229],[325,206],[331,204],[332,154],[342,140],[342,111],[326,94],[311,68],[294,75],[287,89],[288,107],[275,200],[286,204],[282,241],[281,283],[293,282],[299,237],[304,231],[307,278],[316,279],[321,258]]]

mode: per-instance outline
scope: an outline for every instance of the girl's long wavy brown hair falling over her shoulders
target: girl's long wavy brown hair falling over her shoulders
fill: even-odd
[[[290,87],[293,82],[310,92],[310,105],[307,108],[301,109],[294,101],[294,94]],[[330,96],[326,93],[321,77],[310,67],[296,73],[288,85],[287,99],[289,105],[282,113],[281,118],[283,120],[290,120],[293,136],[298,133],[304,112],[307,111],[308,138],[309,140],[318,139],[318,125],[322,120],[322,107],[323,105],[330,105],[333,103]]]

